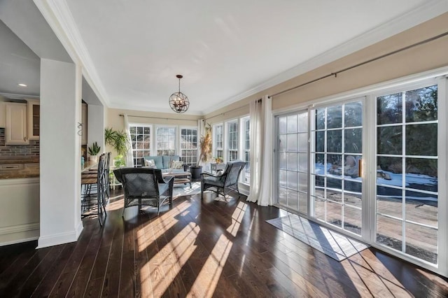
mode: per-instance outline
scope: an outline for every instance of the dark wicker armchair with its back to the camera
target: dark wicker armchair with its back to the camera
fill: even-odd
[[[113,171],[125,192],[125,208],[142,205],[153,206],[160,213],[160,206],[169,200],[172,205],[174,177],[162,178],[160,169],[120,168]]]

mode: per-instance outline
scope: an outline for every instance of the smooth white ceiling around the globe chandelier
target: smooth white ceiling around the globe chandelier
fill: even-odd
[[[70,36],[107,106],[174,113],[168,98],[182,74],[186,113],[197,115],[448,10],[446,0],[34,2],[57,36]]]

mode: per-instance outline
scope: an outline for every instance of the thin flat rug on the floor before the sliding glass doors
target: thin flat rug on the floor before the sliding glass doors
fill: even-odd
[[[266,222],[339,262],[369,247],[298,215],[286,215]]]

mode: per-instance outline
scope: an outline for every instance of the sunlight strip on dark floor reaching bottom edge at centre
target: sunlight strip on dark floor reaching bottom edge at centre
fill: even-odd
[[[188,296],[194,295],[194,293],[204,292],[204,297],[213,296],[216,285],[218,284],[223,267],[228,259],[230,249],[232,248],[232,241],[226,236],[221,235],[216,241],[216,244],[211,250],[211,254],[207,258],[204,266],[198,274],[195,283],[191,287]]]

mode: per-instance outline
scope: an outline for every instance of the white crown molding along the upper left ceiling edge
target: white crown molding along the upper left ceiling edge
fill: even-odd
[[[76,22],[71,15],[66,1],[59,0],[33,0],[38,10],[55,32],[59,41],[69,53],[76,64],[82,66],[83,76],[89,83],[93,92],[104,106],[108,106],[108,96],[102,80],[99,78],[92,58],[80,35]]]

